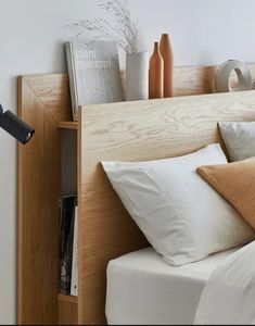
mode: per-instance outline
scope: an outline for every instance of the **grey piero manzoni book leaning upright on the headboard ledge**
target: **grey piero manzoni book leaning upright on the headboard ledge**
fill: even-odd
[[[123,101],[123,88],[115,41],[65,42],[73,120],[78,105]]]

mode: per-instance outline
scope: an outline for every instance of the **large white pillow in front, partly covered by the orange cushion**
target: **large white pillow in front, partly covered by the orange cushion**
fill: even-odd
[[[174,266],[246,243],[254,231],[196,167],[227,163],[220,145],[148,162],[102,162],[114,189],[149,242]]]

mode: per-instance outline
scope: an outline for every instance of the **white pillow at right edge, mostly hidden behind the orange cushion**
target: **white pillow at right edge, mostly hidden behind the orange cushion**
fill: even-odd
[[[255,122],[221,122],[218,125],[231,162],[255,156]]]

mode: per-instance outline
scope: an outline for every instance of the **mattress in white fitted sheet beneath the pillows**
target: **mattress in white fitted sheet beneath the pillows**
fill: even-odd
[[[105,313],[110,325],[188,324],[214,268],[239,248],[179,267],[153,248],[112,260],[107,266]]]

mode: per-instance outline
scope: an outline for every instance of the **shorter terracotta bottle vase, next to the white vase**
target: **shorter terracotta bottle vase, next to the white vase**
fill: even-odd
[[[154,42],[154,51],[150,59],[149,98],[158,99],[164,95],[164,61],[158,42]]]

